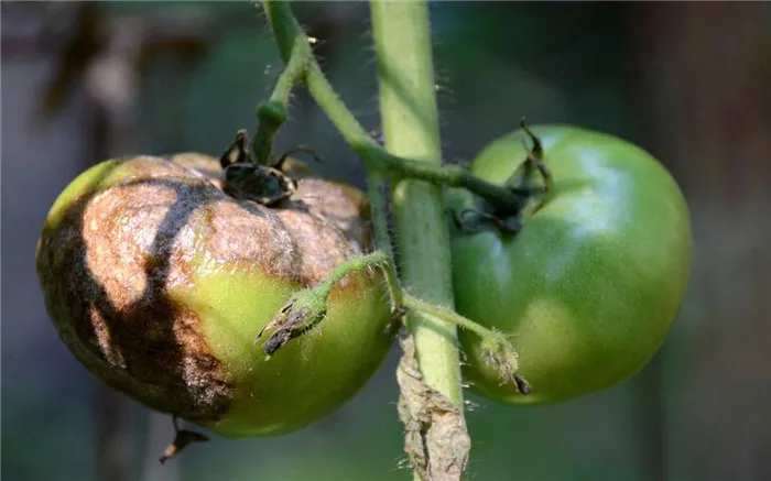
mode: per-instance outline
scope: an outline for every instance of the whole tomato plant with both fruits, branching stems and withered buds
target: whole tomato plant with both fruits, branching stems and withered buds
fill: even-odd
[[[335,92],[290,2],[260,3],[284,68],[257,108],[251,147],[239,131],[219,164],[105,162],[48,215],[37,273],[82,363],[219,434],[280,434],[350,397],[409,311],[397,369],[404,451],[415,479],[459,480],[471,441],[455,327],[467,380],[509,403],[598,390],[650,359],[691,266],[687,207],[655,160],[544,125],[541,140],[495,142],[470,171],[443,165],[425,0],[371,2],[381,143]],[[362,160],[371,219],[361,193],[272,162],[295,86]],[[452,239],[447,186],[461,189],[448,196],[460,211]],[[370,230],[377,251],[356,255]],[[204,438],[177,428],[162,459]]]

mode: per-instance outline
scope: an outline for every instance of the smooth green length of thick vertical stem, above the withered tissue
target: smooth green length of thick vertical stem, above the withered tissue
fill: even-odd
[[[371,11],[386,147],[393,155],[438,167],[442,154],[427,1],[373,1]],[[405,285],[421,298],[452,306],[449,240],[441,187],[400,179],[393,189],[393,207]],[[431,387],[460,407],[455,326],[437,330],[432,324],[417,313],[408,321],[421,373]]]

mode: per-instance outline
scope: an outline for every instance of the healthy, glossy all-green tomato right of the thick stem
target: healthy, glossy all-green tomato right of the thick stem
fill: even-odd
[[[572,127],[531,130],[553,176],[547,203],[515,236],[456,232],[452,249],[457,311],[511,336],[532,393],[501,385],[479,338],[461,332],[466,379],[491,400],[537,405],[616,384],[651,359],[683,299],[692,238],[677,184],[648,153]],[[524,140],[495,141],[471,172],[503,184]]]

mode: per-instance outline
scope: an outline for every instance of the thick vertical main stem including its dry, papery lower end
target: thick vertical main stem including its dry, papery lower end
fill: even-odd
[[[444,194],[438,176],[446,181],[453,173],[463,176],[461,167],[442,167],[438,111],[434,84],[434,65],[427,0],[410,2],[370,2],[372,37],[377,54],[380,90],[380,117],[386,149],[410,162],[383,162],[391,171],[395,237],[400,247],[399,265],[402,280],[411,293],[431,302],[452,306],[452,261],[445,219]],[[420,176],[408,175],[408,168]],[[449,168],[449,170],[448,170]],[[454,171],[453,171],[454,168]],[[424,181],[433,181],[426,183]],[[406,302],[408,296],[403,299]],[[433,321],[432,321],[433,320]],[[470,441],[463,416],[463,385],[456,326],[411,309],[406,327],[412,334],[414,361],[425,386],[448,406],[455,407],[453,436],[463,442],[444,442],[428,433],[437,420],[415,428],[405,425],[405,450],[416,480],[437,478],[431,472],[441,459],[452,459],[459,479],[466,467]],[[405,357],[410,356],[405,352]],[[413,361],[413,362],[414,362]],[[402,387],[400,402],[406,402],[410,390]],[[419,400],[416,409],[432,412],[427,400]],[[441,424],[441,423],[438,423]],[[444,428],[449,428],[443,426]],[[459,470],[457,469],[459,468]]]

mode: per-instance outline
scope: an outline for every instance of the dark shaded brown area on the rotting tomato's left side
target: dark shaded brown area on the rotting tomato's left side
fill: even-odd
[[[110,171],[106,171],[93,185],[98,185],[109,174]],[[43,283],[48,286],[46,304],[58,321],[65,342],[112,387],[161,412],[191,420],[210,420],[227,411],[230,386],[217,375],[218,361],[206,352],[206,346],[198,346],[200,332],[196,315],[171,299],[166,286],[173,262],[171,254],[180,230],[210,201],[232,200],[225,195],[191,194],[195,189],[213,190],[214,187],[203,183],[192,186],[189,181],[173,177],[130,181],[110,189],[137,186],[170,189],[176,198],[145,253],[142,275],[146,285],[141,296],[128,307],[116,307],[88,265],[83,232],[100,227],[84,226],[83,219],[89,203],[100,194],[96,190],[80,197],[67,210],[63,220],[65,233],[50,238],[50,248],[43,252],[42,262],[50,269],[56,266],[41,272]],[[264,216],[248,203],[238,205],[252,216]],[[143,207],[153,208],[152,205]],[[166,206],[156,206],[162,207]],[[109,244],[102,247],[109,248]],[[120,276],[124,274],[118,271],[113,273],[118,277],[110,281],[121,282]],[[130,277],[122,278],[122,282],[130,282]],[[128,285],[118,286],[118,291],[128,288]]]

